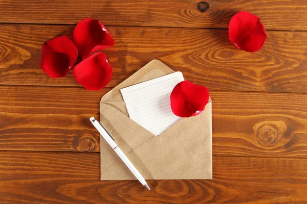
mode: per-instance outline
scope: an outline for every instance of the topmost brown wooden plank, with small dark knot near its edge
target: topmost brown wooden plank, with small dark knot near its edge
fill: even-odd
[[[228,28],[230,18],[246,10],[268,30],[307,30],[305,0],[243,1],[29,1],[0,2],[0,22],[75,24],[97,18],[106,25]]]

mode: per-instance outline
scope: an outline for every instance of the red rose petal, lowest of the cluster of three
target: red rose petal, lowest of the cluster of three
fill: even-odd
[[[73,74],[76,81],[85,89],[98,91],[111,80],[112,68],[104,53],[99,52],[77,64]]]

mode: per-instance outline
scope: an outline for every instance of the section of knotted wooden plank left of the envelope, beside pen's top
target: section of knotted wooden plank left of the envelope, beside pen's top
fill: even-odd
[[[0,149],[99,151],[99,101],[111,89],[0,86]]]

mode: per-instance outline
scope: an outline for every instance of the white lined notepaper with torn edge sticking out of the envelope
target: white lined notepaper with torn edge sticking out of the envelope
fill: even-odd
[[[154,135],[160,135],[181,117],[170,108],[170,93],[184,81],[181,72],[121,89],[129,117]]]

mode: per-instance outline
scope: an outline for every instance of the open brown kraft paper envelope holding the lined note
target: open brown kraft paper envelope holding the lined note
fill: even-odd
[[[201,114],[182,118],[155,136],[128,117],[120,89],[174,72],[152,60],[100,101],[100,122],[144,179],[212,179],[211,99]],[[100,137],[101,180],[136,177]]]

